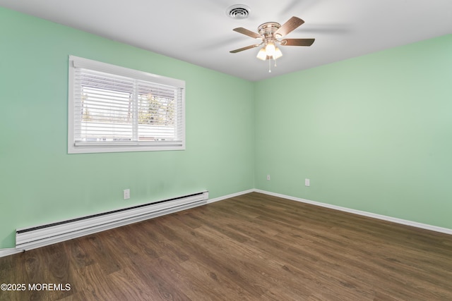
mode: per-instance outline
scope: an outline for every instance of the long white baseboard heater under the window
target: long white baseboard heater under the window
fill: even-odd
[[[16,229],[16,249],[32,250],[44,245],[52,245],[129,223],[198,207],[206,204],[207,200],[208,192],[204,191],[42,226],[18,228]]]

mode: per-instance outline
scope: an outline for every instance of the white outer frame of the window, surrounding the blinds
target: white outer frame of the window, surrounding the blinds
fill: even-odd
[[[159,85],[167,85],[177,89],[182,89],[181,99],[176,100],[181,104],[175,104],[182,110],[179,114],[180,120],[178,140],[162,140],[149,142],[76,142],[76,68],[110,73],[112,75],[124,76],[133,80],[144,80]],[[78,56],[69,56],[69,91],[68,91],[68,154],[100,153],[100,152],[146,152],[146,151],[170,151],[185,149],[185,81],[175,78],[167,78],[162,75],[155,75],[140,70],[125,68],[84,59]]]

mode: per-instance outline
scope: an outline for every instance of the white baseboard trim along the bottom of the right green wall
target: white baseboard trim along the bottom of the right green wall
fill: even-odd
[[[309,199],[301,199],[299,197],[291,197],[290,195],[281,195],[279,193],[269,192],[266,190],[255,189],[254,191],[263,193],[265,195],[272,195],[273,197],[282,197],[283,199],[290,199],[290,200],[296,201],[296,202],[302,202],[302,203],[311,204],[311,205],[315,205],[315,206],[325,207],[328,209],[344,211],[344,212],[348,212],[351,214],[367,216],[367,217],[371,217],[373,219],[381,219],[383,221],[391,221],[393,223],[400,223],[400,224],[406,225],[406,226],[412,226],[412,227],[421,228],[421,229],[425,229],[425,230],[429,230],[429,231],[435,231],[435,232],[439,232],[439,233],[445,233],[445,234],[452,235],[452,229],[449,229],[449,228],[441,228],[438,226],[428,225],[426,223],[418,223],[416,221],[407,221],[405,219],[397,219],[395,217],[385,216],[385,215],[381,215],[381,214],[374,214],[374,213],[367,212],[367,211],[355,210],[355,209],[335,206],[335,205],[321,203],[321,202],[314,202]]]

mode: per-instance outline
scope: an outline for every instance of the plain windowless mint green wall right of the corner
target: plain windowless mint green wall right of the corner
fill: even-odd
[[[257,82],[255,186],[452,228],[451,95],[452,35]]]

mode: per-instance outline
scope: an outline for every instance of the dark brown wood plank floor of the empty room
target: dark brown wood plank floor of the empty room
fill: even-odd
[[[0,258],[0,283],[27,286],[0,300],[452,300],[452,236],[251,193]]]

